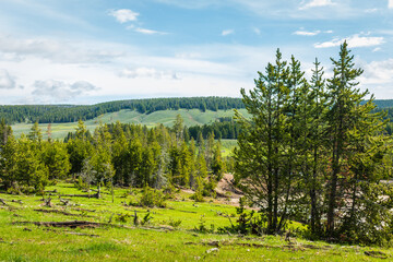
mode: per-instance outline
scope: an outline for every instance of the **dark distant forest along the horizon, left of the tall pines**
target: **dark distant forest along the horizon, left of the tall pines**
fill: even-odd
[[[141,114],[151,114],[158,110],[200,109],[201,111],[217,111],[245,108],[240,98],[231,97],[177,97],[130,99],[100,103],[91,106],[74,105],[23,105],[0,106],[0,119],[7,123],[15,122],[75,122],[80,119],[90,120],[106,112],[121,109],[136,110]]]

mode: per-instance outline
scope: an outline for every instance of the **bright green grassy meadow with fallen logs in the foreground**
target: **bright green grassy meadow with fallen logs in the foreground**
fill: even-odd
[[[139,191],[116,190],[115,203],[109,192],[103,199],[63,196],[83,194],[73,184],[59,183],[47,190],[51,207],[41,196],[0,194],[0,261],[379,261],[393,260],[390,249],[340,246],[279,236],[249,237],[219,235],[216,229],[235,222],[236,210],[225,200],[194,203],[190,193],[179,192],[166,209],[126,206],[139,198]],[[48,196],[46,196],[48,198]],[[148,224],[133,225],[150,212]],[[22,222],[103,223],[97,227],[49,227]],[[110,221],[110,223],[109,223]],[[178,222],[180,225],[176,225]],[[201,233],[195,228],[214,228]],[[371,251],[370,257],[366,253]],[[383,252],[383,254],[378,253]],[[369,253],[370,254],[370,253]]]

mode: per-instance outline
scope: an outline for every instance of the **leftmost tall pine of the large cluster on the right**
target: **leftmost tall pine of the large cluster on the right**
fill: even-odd
[[[267,233],[279,231],[278,211],[283,209],[283,180],[287,172],[283,168],[286,150],[284,142],[285,121],[289,91],[286,86],[288,70],[276,52],[275,64],[269,63],[265,74],[259,72],[255,87],[247,95],[241,90],[242,100],[251,120],[238,111],[243,132],[239,134],[239,148],[235,151],[235,175],[250,201],[265,211]]]

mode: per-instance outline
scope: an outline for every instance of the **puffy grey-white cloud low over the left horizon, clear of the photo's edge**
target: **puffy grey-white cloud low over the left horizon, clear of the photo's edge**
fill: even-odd
[[[63,81],[46,80],[36,81],[32,94],[40,97],[50,97],[57,100],[68,100],[96,90],[98,90],[98,87],[86,81],[78,81],[70,84]]]

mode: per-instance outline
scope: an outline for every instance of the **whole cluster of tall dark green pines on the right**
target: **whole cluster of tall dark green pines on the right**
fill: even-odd
[[[289,221],[308,225],[310,237],[386,243],[393,236],[392,140],[384,112],[364,103],[354,56],[344,43],[333,74],[315,59],[311,80],[291,57],[259,72],[241,90],[251,119],[239,112],[242,132],[235,177],[248,201],[261,209],[263,230],[279,234]]]

